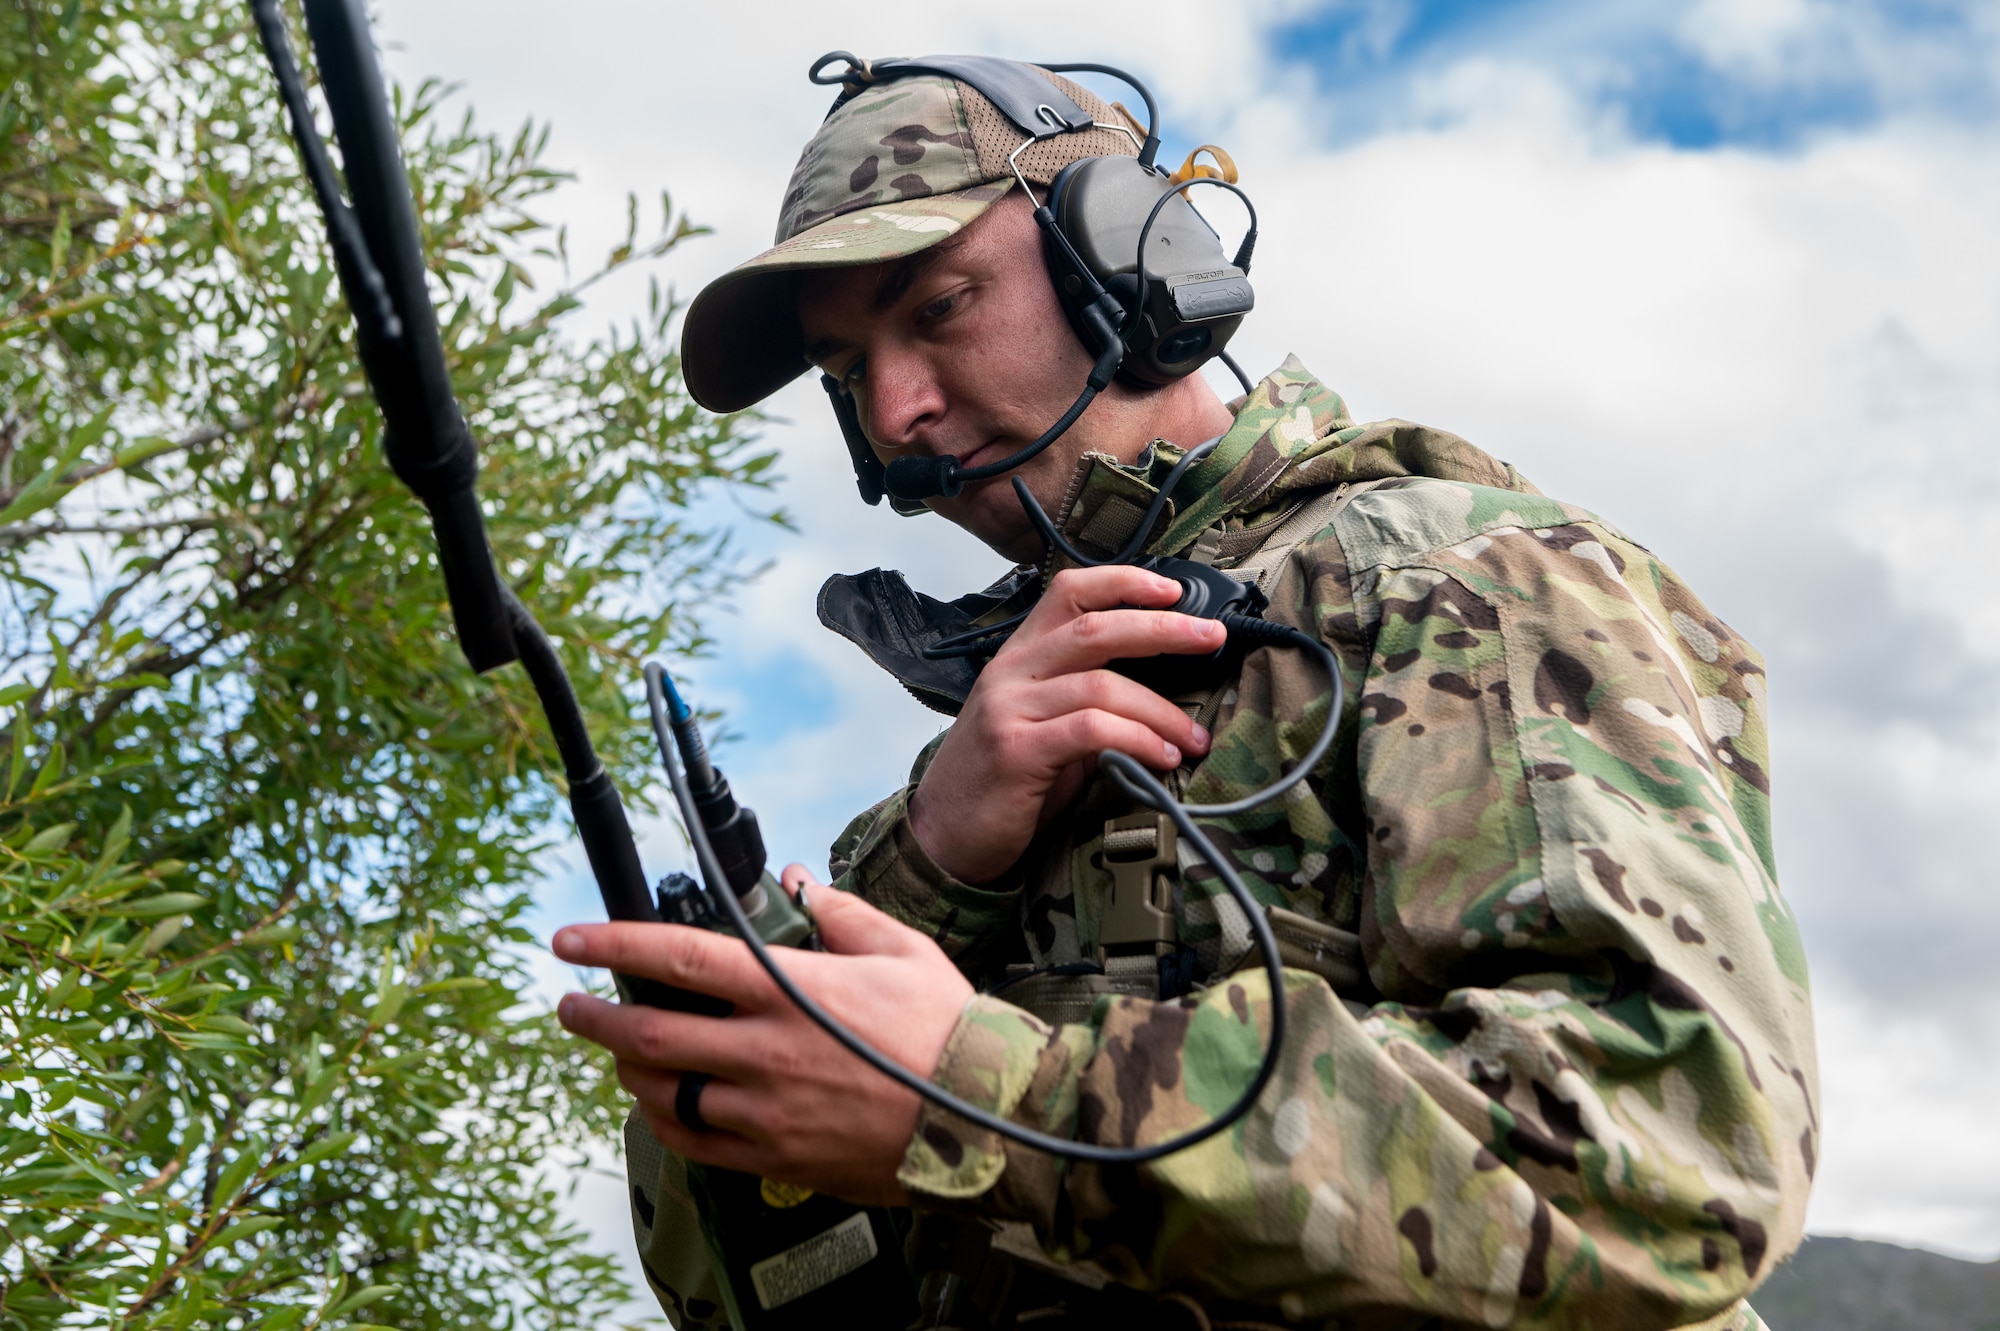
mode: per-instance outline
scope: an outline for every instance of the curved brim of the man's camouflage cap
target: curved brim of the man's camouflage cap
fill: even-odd
[[[906,198],[828,218],[702,288],[680,332],[688,394],[710,412],[740,412],[806,372],[792,274],[906,258],[956,236],[1014,186]]]

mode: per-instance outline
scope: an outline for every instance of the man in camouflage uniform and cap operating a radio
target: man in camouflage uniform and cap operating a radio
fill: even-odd
[[[1062,86],[1100,122],[1116,116]],[[748,406],[810,352],[854,388],[884,456],[1000,450],[984,462],[1052,420],[1046,402],[1060,412],[1090,356],[1052,298],[978,278],[988,252],[1038,264],[1022,250],[1028,204],[996,166],[1020,136],[996,120],[946,78],[870,88],[836,112],[800,160],[780,244],[690,312],[696,398]],[[1028,178],[1132,150],[1090,138],[1024,154]],[[1016,410],[988,412],[952,378],[1008,356],[1002,332],[1022,336],[978,304],[982,282],[1022,292],[1044,354],[1074,370],[992,444],[984,426],[950,426]],[[1258,582],[1266,618],[1332,646],[1344,673],[1338,741],[1310,781],[1204,821],[1286,957],[1276,1079],[1194,1149],[1064,1165],[882,1089],[816,1031],[762,1043],[802,1019],[728,939],[568,929],[570,959],[742,1009],[708,1021],[732,1031],[724,1051],[706,1019],[564,1001],[640,1101],[636,1223],[662,1303],[678,1325],[718,1325],[686,1153],[914,1207],[932,1313],[964,1325],[1760,1325],[1744,1295],[1798,1243],[1818,1087],[1772,861],[1758,654],[1618,528],[1456,436],[1356,424],[1298,360],[1226,406],[1198,376],[1114,390],[1020,476],[1104,558],[1210,424],[1220,444],[1146,550]],[[800,979],[1018,1123],[1104,1145],[1188,1131],[1256,1071],[1272,995],[1246,921],[1184,845],[1158,867],[1192,991],[1158,1001],[1150,957],[1142,971],[1092,965],[1120,871],[1106,823],[1134,809],[1078,757],[1120,747],[1190,803],[1232,799],[1312,745],[1328,681],[1278,648],[1178,705],[1138,699],[1108,660],[1220,634],[1130,610],[1172,602],[1146,574],[1044,558],[1006,478],[930,506],[1022,568],[952,606],[880,570],[822,594],[832,628],[958,721],[834,847],[850,895],[812,901],[848,955],[800,957]],[[1024,606],[1034,616],[984,671],[920,656]],[[786,881],[806,875],[794,865]],[[764,1077],[760,1059],[784,1075]],[[724,1131],[674,1119],[682,1069],[716,1075],[704,1113]]]

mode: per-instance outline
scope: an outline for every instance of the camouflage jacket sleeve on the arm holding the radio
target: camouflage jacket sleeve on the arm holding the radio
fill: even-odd
[[[1798,1241],[1816,1153],[1758,658],[1592,522],[1346,558],[1330,538],[1302,548],[1274,600],[1352,671],[1354,747],[1336,745],[1320,793],[1358,785],[1360,931],[1384,997],[1354,1011],[1286,971],[1274,1083],[1190,1151],[1062,1167],[926,1107],[904,1185],[1212,1311],[1754,1325],[1740,1299]],[[1280,669],[1252,658],[1242,693],[1218,753],[1310,743],[1312,697]],[[1256,817],[1216,839],[1286,903]],[[976,999],[936,1075],[1044,1131],[1160,1141],[1236,1097],[1268,1021],[1254,967],[1056,1029]]]

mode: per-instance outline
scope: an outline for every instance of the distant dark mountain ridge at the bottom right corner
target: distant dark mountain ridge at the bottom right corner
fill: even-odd
[[[1772,1331],[2000,1331],[2000,1261],[1808,1237],[1750,1305]]]

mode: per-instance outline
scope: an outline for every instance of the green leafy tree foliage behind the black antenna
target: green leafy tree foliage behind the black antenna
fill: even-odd
[[[538,136],[398,116],[502,576],[640,789],[730,576],[680,514],[770,458],[658,288],[532,290]],[[600,1325],[550,1179],[616,1105],[520,997],[560,765],[452,642],[242,6],[0,0],[0,1327]]]

